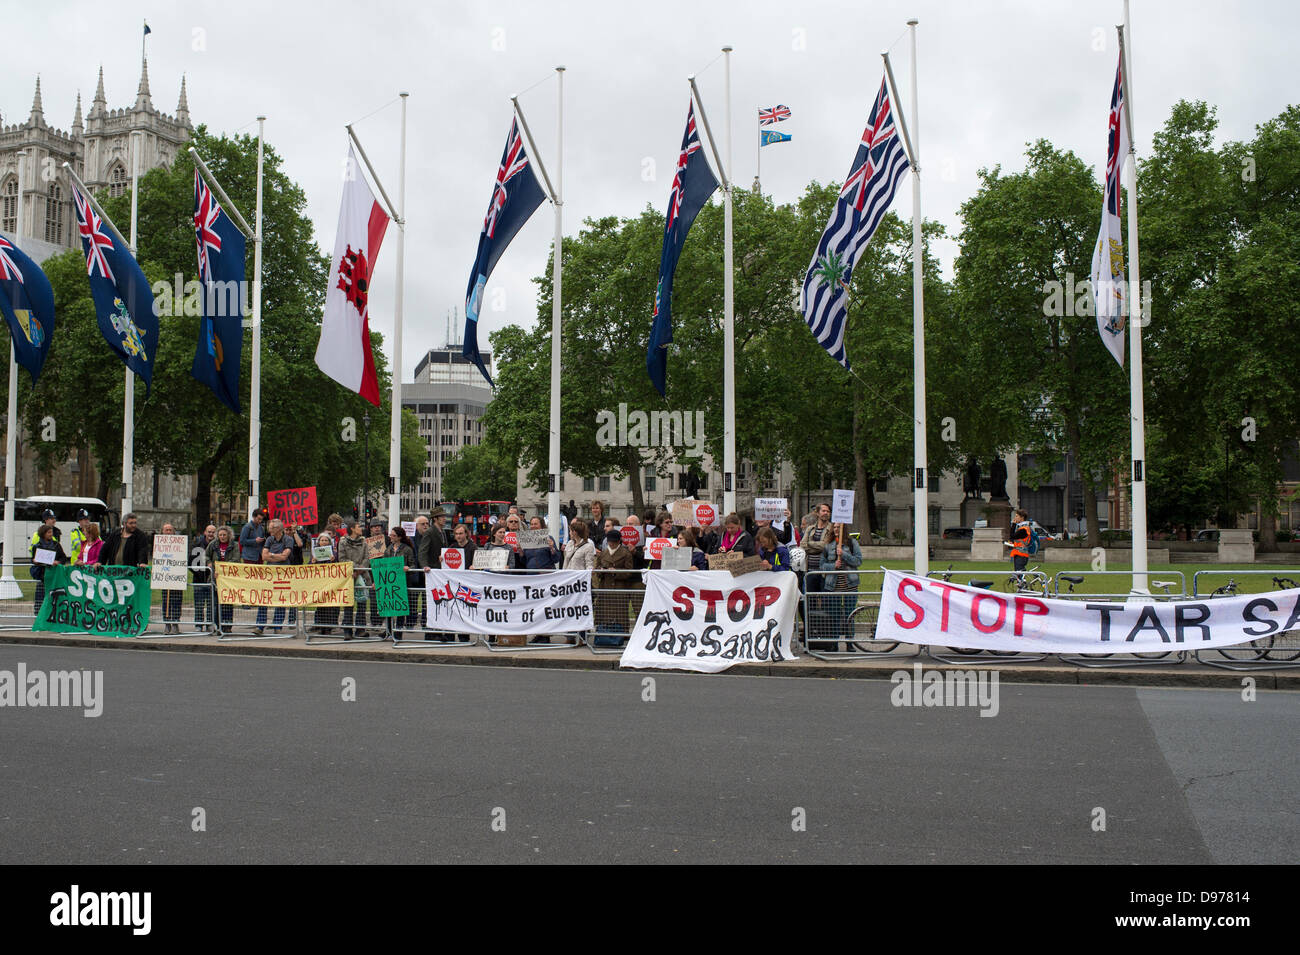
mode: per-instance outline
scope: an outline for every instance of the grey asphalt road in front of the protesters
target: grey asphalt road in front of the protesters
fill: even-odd
[[[20,661],[103,670],[104,711],[0,708],[0,863],[1300,858],[1288,693],[1002,683],[989,719],[864,680]]]

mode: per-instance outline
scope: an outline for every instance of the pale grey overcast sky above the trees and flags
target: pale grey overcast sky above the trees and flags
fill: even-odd
[[[399,91],[408,104],[404,379],[446,340],[464,303],[469,266],[520,101],[542,161],[558,172],[556,82],[564,65],[564,231],[584,218],[634,216],[667,204],[697,73],[725,160],[723,45],[732,64],[733,179],[755,172],[755,109],[783,103],[776,129],[790,143],[763,149],[763,191],[794,200],[810,179],[842,179],[890,49],[911,117],[906,21],[919,18],[919,144],[923,209],[956,238],[958,209],[982,166],[1024,165],[1046,138],[1095,168],[1105,161],[1121,0],[620,0],[546,3],[58,3],[5,14],[0,116],[22,122],[42,77],[46,120],[69,129],[75,95],[90,108],[100,64],[109,108],[129,107],[139,81],[140,21],[148,19],[155,105],[174,112],[188,78],[195,125],[256,131],[307,191],[316,238],[333,249],[355,123],[385,188],[398,200]],[[1295,99],[1300,4],[1134,0],[1132,103],[1139,156],[1179,99],[1218,107],[1221,139],[1253,134]],[[22,42],[18,42],[21,38]],[[536,88],[533,87],[534,84]],[[374,112],[380,110],[380,112]],[[372,114],[373,113],[373,114]],[[365,118],[363,118],[365,117]],[[915,135],[915,133],[914,133]],[[911,212],[907,183],[894,210]],[[244,209],[247,216],[252,209]],[[1100,216],[1100,210],[1098,210]],[[502,257],[485,296],[480,340],[537,316],[532,279],[546,268],[551,207],[534,213]],[[395,233],[380,255],[370,321],[391,342]],[[148,236],[140,236],[142,243]],[[956,242],[937,249],[950,269]],[[811,256],[812,249],[809,249]],[[504,309],[491,311],[493,290]],[[653,303],[646,303],[646,331]],[[459,329],[455,334],[460,334]]]

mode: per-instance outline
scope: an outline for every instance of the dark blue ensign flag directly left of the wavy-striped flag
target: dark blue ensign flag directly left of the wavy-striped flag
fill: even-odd
[[[659,285],[654,292],[654,325],[646,350],[646,372],[655,390],[663,395],[668,382],[668,344],[672,342],[672,274],[677,269],[681,247],[686,243],[696,216],[718,188],[714,170],[708,168],[696,129],[696,104],[686,112],[686,133],[681,138],[677,172],[668,192],[668,214],[663,223],[663,252],[659,256]]]

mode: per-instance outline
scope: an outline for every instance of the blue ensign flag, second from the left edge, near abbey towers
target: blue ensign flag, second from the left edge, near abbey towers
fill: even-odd
[[[144,379],[144,394],[148,395],[159,347],[153,292],[126,243],[95,213],[75,183],[73,201],[99,331],[122,363]]]

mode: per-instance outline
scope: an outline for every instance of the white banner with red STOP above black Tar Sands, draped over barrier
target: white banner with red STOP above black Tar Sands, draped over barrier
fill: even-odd
[[[623,667],[718,673],[737,663],[793,660],[798,579],[760,570],[647,570]]]

